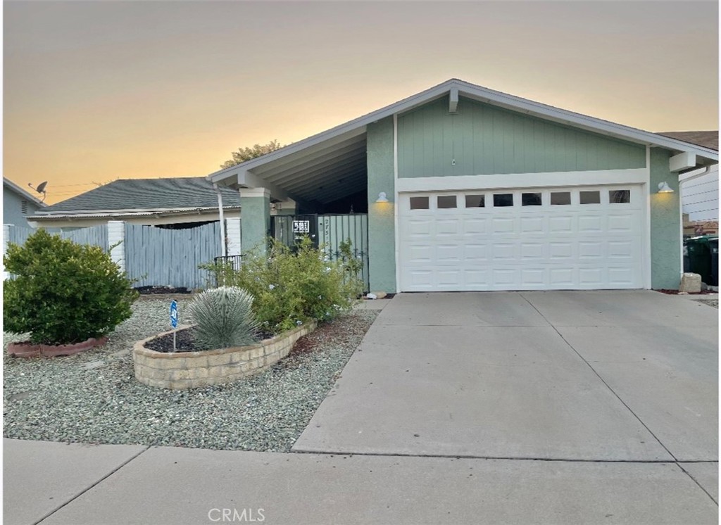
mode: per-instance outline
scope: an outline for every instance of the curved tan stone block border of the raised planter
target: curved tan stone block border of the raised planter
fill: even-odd
[[[138,341],[133,346],[136,379],[150,387],[185,390],[223,385],[242,380],[273,366],[288,355],[299,338],[311,333],[316,323],[308,323],[256,344],[193,352],[159,352],[145,344],[172,331]],[[190,328],[190,325],[178,329]]]

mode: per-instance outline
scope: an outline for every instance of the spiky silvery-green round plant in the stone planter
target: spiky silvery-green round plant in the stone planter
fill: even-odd
[[[195,344],[204,349],[229,348],[255,342],[258,324],[252,313],[253,296],[236,287],[206,290],[190,303]]]

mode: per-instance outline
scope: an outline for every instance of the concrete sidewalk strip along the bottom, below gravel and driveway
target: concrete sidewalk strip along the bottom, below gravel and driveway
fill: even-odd
[[[684,472],[688,465],[664,462],[270,454],[10,439],[4,457],[8,525],[41,519],[43,525],[676,525],[717,523],[718,512]],[[703,483],[716,469],[695,463],[690,472]]]

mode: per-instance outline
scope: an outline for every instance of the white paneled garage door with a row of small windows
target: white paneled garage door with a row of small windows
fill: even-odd
[[[642,288],[639,185],[402,193],[404,292]]]

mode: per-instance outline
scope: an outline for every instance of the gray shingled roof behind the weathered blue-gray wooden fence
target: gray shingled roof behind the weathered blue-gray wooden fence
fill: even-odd
[[[240,207],[240,194],[220,187],[223,207]],[[183,210],[218,208],[218,194],[205,177],[119,179],[42,210],[68,213],[118,210]],[[40,215],[40,214],[38,214]]]

